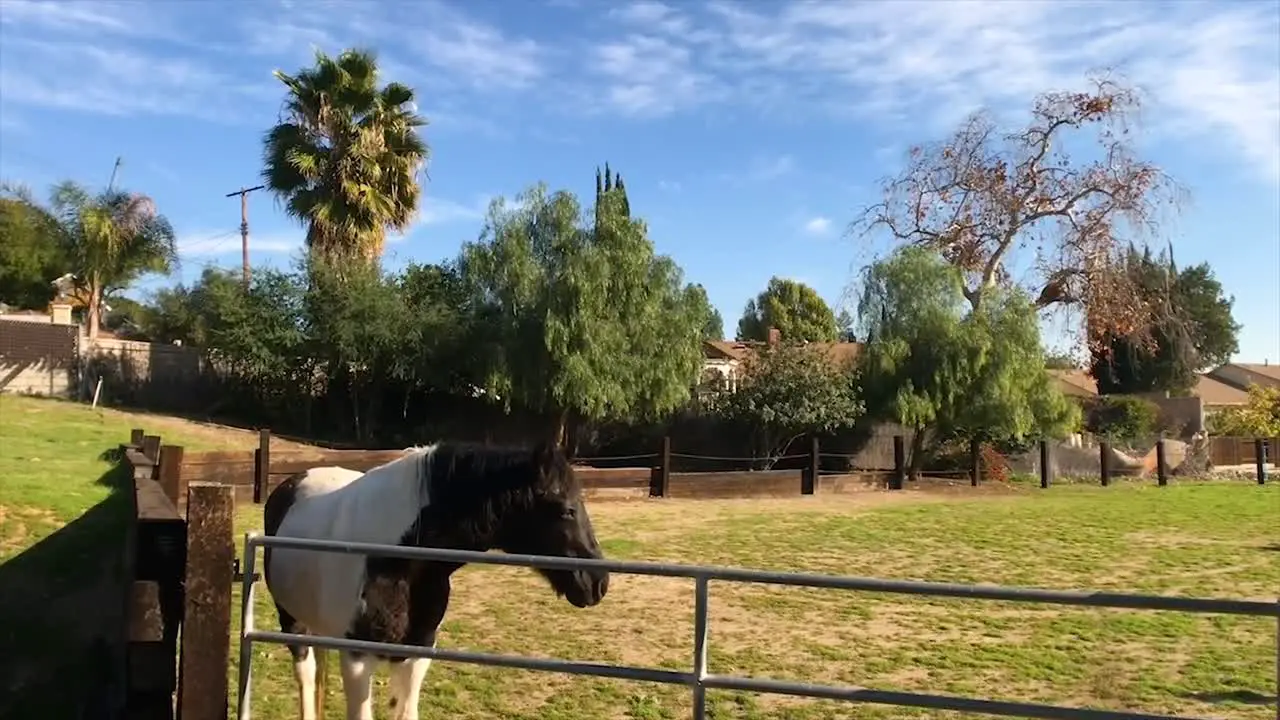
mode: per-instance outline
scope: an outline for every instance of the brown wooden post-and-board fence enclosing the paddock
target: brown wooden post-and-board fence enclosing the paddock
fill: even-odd
[[[125,717],[129,720],[224,720],[232,632],[232,584],[241,578],[236,562],[237,502],[261,502],[284,477],[319,465],[367,470],[402,450],[305,450],[273,452],[271,433],[261,430],[260,446],[247,451],[186,452],[161,445],[157,436],[134,429],[120,450],[132,470],[133,523],[124,542],[128,634],[125,648]],[[723,473],[676,473],[673,460],[744,461],[672,452],[663,438],[657,452],[643,456],[582,459],[580,462],[648,465],[577,468],[589,493],[709,498],[782,497],[841,493],[863,488],[902,489],[906,483],[905,438],[893,438],[895,468],[861,471],[823,470],[817,439],[808,452],[788,456],[804,468]],[[1101,448],[1101,483],[1112,479],[1111,454]],[[1052,447],[1039,446],[1041,487],[1052,482]],[[1266,441],[1254,441],[1258,483],[1266,482]],[[970,484],[983,479],[980,452],[970,448]],[[1156,446],[1156,478],[1167,484],[1165,446]],[[179,633],[180,630],[180,633]],[[179,646],[180,637],[180,646]]]

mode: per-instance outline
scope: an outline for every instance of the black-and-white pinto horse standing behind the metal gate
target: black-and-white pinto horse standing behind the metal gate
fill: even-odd
[[[262,511],[268,536],[603,559],[582,487],[556,445],[440,442],[358,473],[311,468],[282,482]],[[264,547],[268,591],[285,633],[435,647],[457,562]],[[544,570],[557,597],[604,600],[602,570]],[[324,653],[291,644],[301,720],[319,720]],[[390,665],[396,720],[416,720],[429,659],[340,651],[347,720],[372,720],[372,674]]]

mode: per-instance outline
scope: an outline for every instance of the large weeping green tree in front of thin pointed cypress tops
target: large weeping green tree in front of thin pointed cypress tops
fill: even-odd
[[[572,193],[544,184],[515,208],[495,200],[460,258],[485,388],[544,413],[559,442],[576,420],[682,406],[701,368],[703,309],[620,195],[604,193],[589,223]]]

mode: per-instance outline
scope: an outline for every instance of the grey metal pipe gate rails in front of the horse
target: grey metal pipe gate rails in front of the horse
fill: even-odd
[[[444,562],[508,565],[520,568],[547,568],[563,570],[598,569],[609,573],[630,575],[660,575],[668,578],[690,578],[695,580],[694,607],[694,661],[692,671],[659,670],[653,667],[634,667],[623,665],[603,665],[593,662],[571,662],[563,660],[544,660],[508,655],[489,655],[480,652],[417,647],[392,643],[375,643],[349,638],[326,638],[276,633],[253,629],[253,575],[257,548],[262,546],[311,550],[317,552],[340,552],[366,556],[398,557],[407,560],[434,560]],[[806,573],[772,573],[744,570],[737,568],[709,568],[698,565],[676,565],[668,562],[631,562],[620,560],[584,560],[570,557],[549,557],[534,555],[504,555],[489,552],[468,552],[461,550],[436,550],[403,546],[384,546],[337,541],[317,541],[302,538],[268,537],[257,533],[244,536],[244,568],[242,592],[242,620],[239,646],[239,720],[251,720],[250,683],[252,679],[252,646],[255,642],[300,643],[328,650],[355,650],[367,653],[387,653],[404,657],[429,657],[442,661],[513,667],[520,670],[540,670],[566,673],[572,675],[591,675],[621,680],[637,680],[687,685],[694,697],[694,717],[703,720],[707,714],[707,691],[748,691],[760,693],[790,694],[820,700],[919,707],[928,710],[954,710],[961,712],[983,712],[1007,717],[1043,717],[1048,720],[1193,720],[1185,716],[1152,715],[1144,712],[1116,712],[1110,710],[1088,710],[1038,705],[1028,702],[993,701],[929,693],[910,693],[878,691],[859,687],[815,685],[785,680],[758,678],[737,678],[712,675],[707,671],[708,643],[708,591],[710,580],[736,583],[763,583],[774,585],[836,588],[847,591],[868,591],[902,593],[929,597],[954,597],[968,600],[1002,600],[1014,602],[1039,602],[1053,605],[1073,605],[1088,607],[1116,607],[1130,610],[1169,610],[1179,612],[1211,612],[1229,615],[1253,615],[1276,618],[1280,623],[1280,602],[1193,598],[1170,596],[1146,596],[1102,592],[1047,591],[1037,588],[1012,588],[1001,585],[965,585],[955,583],[927,583],[918,580],[884,580],[874,578],[852,578],[838,575],[815,575]],[[1280,682],[1280,628],[1276,646],[1277,682]],[[1280,688],[1277,688],[1280,689]]]

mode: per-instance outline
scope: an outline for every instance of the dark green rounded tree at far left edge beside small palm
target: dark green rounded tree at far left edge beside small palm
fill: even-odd
[[[0,186],[0,302],[44,310],[70,269],[59,227],[26,187]]]

